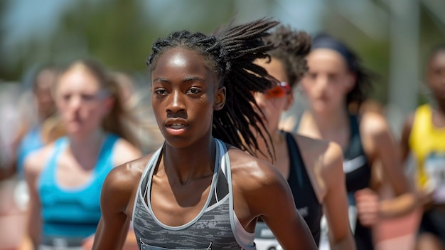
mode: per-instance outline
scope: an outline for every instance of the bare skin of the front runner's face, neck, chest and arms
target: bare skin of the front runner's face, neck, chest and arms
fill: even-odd
[[[208,197],[215,162],[213,112],[225,103],[225,88],[218,88],[217,79],[202,56],[179,47],[161,54],[151,73],[152,107],[166,140],[154,171],[151,207],[163,224],[190,222]],[[268,162],[227,147],[234,209],[242,226],[253,232],[257,217],[262,217],[284,249],[316,249],[280,172]],[[121,249],[150,157],[116,167],[105,180],[93,249]]]

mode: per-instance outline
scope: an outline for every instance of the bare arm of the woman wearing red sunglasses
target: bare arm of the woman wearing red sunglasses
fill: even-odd
[[[349,226],[348,197],[346,195],[345,174],[343,172],[343,152],[335,142],[328,142],[323,156],[322,176],[327,186],[323,199],[331,249],[354,250],[355,242]]]

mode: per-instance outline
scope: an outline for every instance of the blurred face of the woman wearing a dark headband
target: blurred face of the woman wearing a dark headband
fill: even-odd
[[[301,86],[311,108],[322,113],[343,108],[355,80],[343,56],[330,49],[318,48],[309,53],[307,61],[309,71]]]

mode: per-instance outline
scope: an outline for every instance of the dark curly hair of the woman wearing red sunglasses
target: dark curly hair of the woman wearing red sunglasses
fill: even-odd
[[[270,51],[269,55],[282,62],[289,85],[294,87],[309,69],[306,56],[311,51],[311,36],[289,25],[280,25],[266,40],[277,44],[278,47]]]

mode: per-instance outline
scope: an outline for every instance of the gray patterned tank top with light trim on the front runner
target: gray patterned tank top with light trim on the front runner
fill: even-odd
[[[139,249],[256,249],[254,234],[245,231],[233,210],[227,148],[215,140],[215,170],[207,202],[195,219],[181,226],[162,224],[151,209],[151,179],[163,147],[154,152],[141,176],[134,202],[132,221]]]

